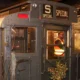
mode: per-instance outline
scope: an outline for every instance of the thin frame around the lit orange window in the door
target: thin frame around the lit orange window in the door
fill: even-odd
[[[45,53],[45,57],[46,57],[46,60],[49,60],[49,61],[51,61],[51,60],[56,60],[55,58],[53,58],[53,59],[49,59],[48,58],[48,52],[47,52],[47,47],[48,46],[56,46],[55,44],[47,44],[47,31],[48,30],[51,30],[51,31],[63,31],[64,32],[64,57],[58,57],[58,59],[64,59],[65,57],[66,57],[66,47],[67,47],[67,30],[57,30],[57,29],[47,29],[46,28],[46,37],[45,37],[45,39],[46,39],[46,45],[45,45],[45,47],[46,47],[46,53]],[[66,32],[65,32],[66,31]]]

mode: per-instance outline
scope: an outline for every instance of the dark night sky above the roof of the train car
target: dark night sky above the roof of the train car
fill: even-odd
[[[25,1],[25,0],[0,0],[0,9],[11,6],[11,5],[16,4],[20,1]],[[61,0],[60,2],[68,4],[68,5],[75,5],[77,3],[79,4],[80,0]]]

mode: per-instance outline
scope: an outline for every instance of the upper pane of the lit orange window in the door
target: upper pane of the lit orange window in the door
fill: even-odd
[[[47,44],[64,44],[64,32],[63,31],[47,31]]]

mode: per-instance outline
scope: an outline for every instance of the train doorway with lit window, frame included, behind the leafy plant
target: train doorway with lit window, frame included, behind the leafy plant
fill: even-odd
[[[52,72],[56,69],[57,61],[66,63],[66,79],[69,80],[69,56],[70,56],[70,33],[69,27],[57,25],[44,25],[44,54],[43,54],[43,75],[45,80],[51,80]],[[67,70],[68,69],[68,70]]]

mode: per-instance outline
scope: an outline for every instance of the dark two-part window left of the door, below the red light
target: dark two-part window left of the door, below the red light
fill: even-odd
[[[11,29],[12,50],[16,53],[34,53],[35,52],[35,28],[23,27]]]

